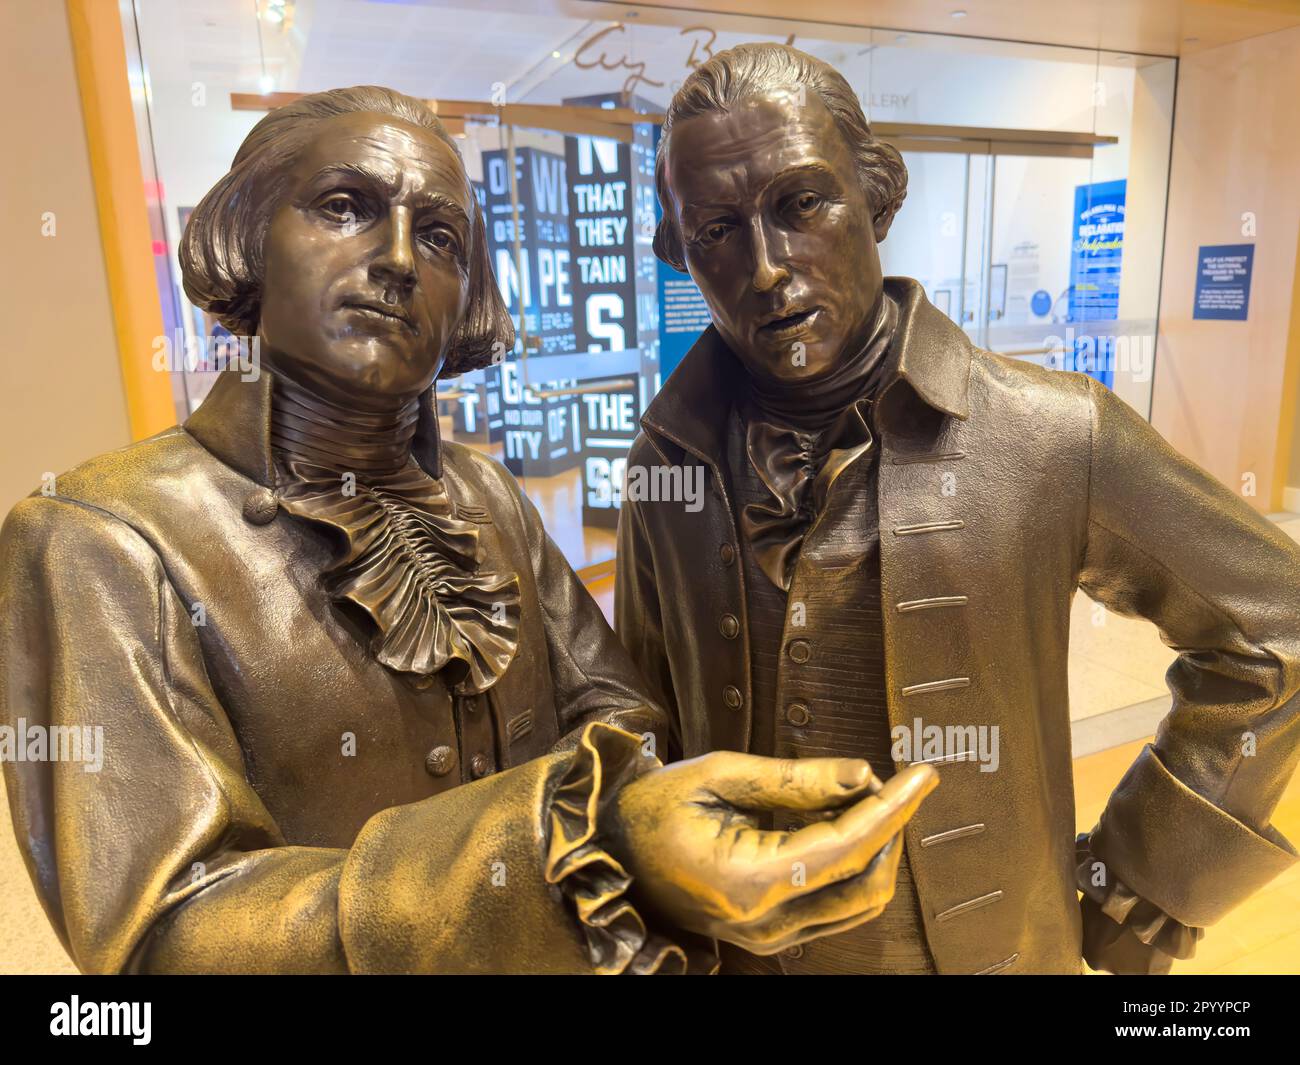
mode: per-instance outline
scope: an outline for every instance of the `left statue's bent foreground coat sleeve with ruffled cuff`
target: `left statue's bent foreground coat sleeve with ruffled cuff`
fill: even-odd
[[[20,849],[86,973],[685,967],[593,849],[604,801],[651,765],[638,736],[597,724],[381,811],[350,849],[287,845],[157,554],[81,502],[32,497],[0,531],[0,724],[22,748],[4,759]],[[31,745],[66,756],[73,731],[79,758]]]

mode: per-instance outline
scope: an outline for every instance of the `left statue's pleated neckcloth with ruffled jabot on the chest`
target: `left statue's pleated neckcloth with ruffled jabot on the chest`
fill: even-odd
[[[519,577],[481,568],[478,525],[411,456],[417,410],[344,411],[277,376],[280,503],[338,533],[326,588],[369,618],[376,659],[406,674],[448,670],[458,694],[478,694],[517,650]]]

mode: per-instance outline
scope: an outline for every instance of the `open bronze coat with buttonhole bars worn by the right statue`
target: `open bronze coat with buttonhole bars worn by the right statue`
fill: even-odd
[[[1001,740],[994,772],[942,765],[906,830],[936,965],[1080,969],[1076,588],[1180,651],[1173,710],[1110,797],[1093,852],[1178,921],[1216,922],[1296,860],[1269,817],[1300,754],[1300,549],[1092,378],[976,350],[916,282],[885,283],[902,308],[876,410],[890,726],[997,726]],[[698,512],[628,499],[619,525],[616,628],[684,757],[745,750],[753,732],[723,449],[738,373],[706,330],[628,460],[706,468]]]

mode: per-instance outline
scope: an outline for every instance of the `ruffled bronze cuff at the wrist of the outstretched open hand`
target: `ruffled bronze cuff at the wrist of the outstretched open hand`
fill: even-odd
[[[711,973],[716,954],[650,930],[628,900],[632,876],[603,849],[601,817],[619,791],[659,766],[640,736],[594,722],[551,798],[546,880],[573,904],[597,973]]]

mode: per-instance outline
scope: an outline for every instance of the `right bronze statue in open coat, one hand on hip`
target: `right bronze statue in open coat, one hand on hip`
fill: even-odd
[[[1300,549],[1095,380],[980,351],[883,278],[906,179],[844,78],[784,46],[720,52],[666,114],[655,251],[714,324],[628,468],[703,466],[715,490],[624,502],[619,635],[672,757],[944,767],[880,917],[724,945],[723,971],[1167,971],[1296,861],[1269,817],[1300,756]],[[1080,586],[1180,654],[1076,841]]]

